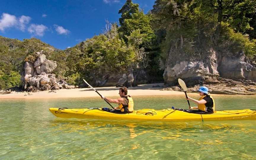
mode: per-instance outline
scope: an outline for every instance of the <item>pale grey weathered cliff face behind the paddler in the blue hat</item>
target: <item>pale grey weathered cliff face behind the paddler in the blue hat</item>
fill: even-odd
[[[165,84],[176,85],[178,78],[184,79],[188,85],[217,82],[218,77],[256,81],[256,68],[245,62],[244,53],[223,55],[211,50],[206,54],[209,57],[204,60],[176,63],[169,57],[163,74]]]

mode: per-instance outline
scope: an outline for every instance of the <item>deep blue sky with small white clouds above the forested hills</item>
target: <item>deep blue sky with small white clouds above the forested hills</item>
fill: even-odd
[[[133,0],[147,13],[155,0]],[[36,37],[65,49],[99,35],[106,21],[119,22],[126,0],[1,0],[0,35],[23,40]]]

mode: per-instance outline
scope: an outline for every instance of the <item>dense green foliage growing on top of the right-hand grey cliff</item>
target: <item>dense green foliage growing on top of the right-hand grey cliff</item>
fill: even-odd
[[[164,58],[202,58],[210,49],[256,54],[254,0],[156,0],[152,14]]]

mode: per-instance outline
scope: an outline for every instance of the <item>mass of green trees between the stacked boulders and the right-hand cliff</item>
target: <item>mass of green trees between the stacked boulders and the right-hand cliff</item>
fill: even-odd
[[[120,26],[108,23],[103,34],[67,49],[66,76],[72,84],[82,84],[82,78],[100,79],[141,68],[149,75],[157,75],[152,76],[154,80],[162,79],[151,14],[144,14],[131,0],[126,1],[119,14]]]

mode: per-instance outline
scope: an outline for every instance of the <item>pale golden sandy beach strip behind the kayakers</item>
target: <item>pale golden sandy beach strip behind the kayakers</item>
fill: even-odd
[[[137,87],[129,87],[128,94],[132,96],[149,96],[149,95],[181,95],[184,92],[177,91],[161,91],[163,83],[159,84],[142,84]],[[100,94],[105,97],[108,96],[119,96],[119,88],[112,87],[96,87],[95,88]],[[41,92],[14,92],[11,94],[0,94],[0,99],[49,99],[49,98],[79,98],[79,97],[99,97],[99,95],[90,88],[78,88],[78,89],[60,89],[54,92],[41,91]],[[25,96],[26,95],[26,96]]]

